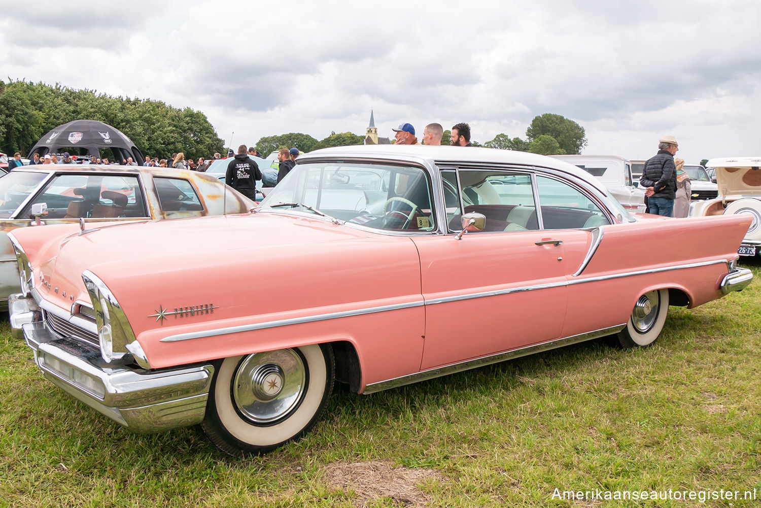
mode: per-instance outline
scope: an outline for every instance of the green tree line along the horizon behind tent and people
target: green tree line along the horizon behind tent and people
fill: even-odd
[[[183,152],[186,158],[198,158],[227,152],[205,114],[189,107],[179,109],[161,101],[74,90],[59,83],[51,86],[24,80],[0,81],[0,149],[8,153],[26,155],[49,130],[80,119],[116,127],[145,155],[167,158],[174,152]],[[444,131],[442,143],[448,144],[450,134]],[[332,132],[322,140],[304,133],[287,133],[264,136],[256,142],[256,149],[269,155],[282,148],[311,152],[363,142],[364,136],[350,132]],[[471,142],[474,146],[542,155],[578,154],[587,145],[584,127],[553,113],[534,117],[526,129],[526,139],[500,133],[483,144]]]

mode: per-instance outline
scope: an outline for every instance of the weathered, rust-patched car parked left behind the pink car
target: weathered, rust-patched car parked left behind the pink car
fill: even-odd
[[[31,165],[0,178],[0,308],[18,292],[16,256],[8,232],[40,225],[129,222],[246,212],[256,203],[195,171],[118,165]]]

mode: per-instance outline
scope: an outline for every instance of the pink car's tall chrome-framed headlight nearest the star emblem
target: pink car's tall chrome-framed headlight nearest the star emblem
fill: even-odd
[[[130,354],[127,344],[135,341],[135,332],[129,326],[126,315],[106,284],[94,273],[85,270],[82,280],[93,302],[100,356],[107,362],[124,359]]]

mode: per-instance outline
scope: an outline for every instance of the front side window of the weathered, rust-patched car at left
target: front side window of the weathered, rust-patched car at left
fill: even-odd
[[[29,203],[46,203],[49,219],[116,219],[145,217],[135,176],[59,174]]]

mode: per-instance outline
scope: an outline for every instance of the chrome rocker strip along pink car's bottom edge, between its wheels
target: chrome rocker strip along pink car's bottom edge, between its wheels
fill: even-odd
[[[427,381],[428,379],[434,379],[441,377],[442,375],[454,374],[455,372],[462,372],[463,370],[476,369],[492,363],[504,362],[508,359],[520,358],[521,356],[527,356],[533,353],[541,353],[542,351],[553,350],[558,347],[569,346],[578,342],[584,342],[585,340],[592,340],[598,337],[605,337],[606,335],[616,334],[626,327],[626,323],[617,324],[616,326],[602,328],[600,330],[590,331],[586,334],[574,335],[573,337],[565,337],[562,339],[549,340],[540,344],[534,344],[533,346],[520,347],[515,350],[506,351],[505,353],[497,353],[489,356],[482,356],[481,358],[469,359],[466,362],[453,363],[451,365],[443,367],[435,367],[434,369],[423,370],[421,372],[415,372],[414,374],[402,375],[398,378],[388,379],[387,381],[380,381],[371,383],[365,387],[363,395],[369,395],[376,391],[388,390],[390,388],[398,388],[404,385],[411,385],[412,383]]]

